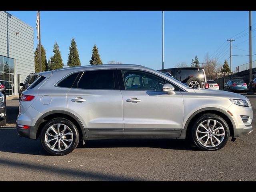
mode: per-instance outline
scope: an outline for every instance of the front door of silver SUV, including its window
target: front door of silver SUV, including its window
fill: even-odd
[[[164,79],[147,72],[123,70],[124,137],[175,138],[183,123],[183,96],[164,93]],[[139,81],[135,78],[139,77]],[[130,81],[130,78],[133,78]]]

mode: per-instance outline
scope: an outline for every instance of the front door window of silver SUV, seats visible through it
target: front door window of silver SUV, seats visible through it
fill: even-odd
[[[142,71],[122,70],[126,90],[162,91],[164,79]]]

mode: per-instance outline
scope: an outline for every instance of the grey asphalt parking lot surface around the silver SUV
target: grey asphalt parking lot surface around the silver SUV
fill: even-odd
[[[50,156],[40,140],[19,137],[18,100],[7,101],[8,120],[0,128],[1,181],[255,181],[256,96],[252,134],[204,152],[184,140],[95,140],[66,156]]]

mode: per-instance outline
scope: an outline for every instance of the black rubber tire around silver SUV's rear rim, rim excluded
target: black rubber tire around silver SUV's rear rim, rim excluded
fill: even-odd
[[[68,126],[70,128],[70,130],[73,133],[72,144],[70,145],[70,147],[68,149],[66,149],[66,150],[64,150],[62,152],[51,150],[47,146],[47,144],[45,143],[45,140],[44,140],[44,136],[45,136],[46,130],[50,126],[52,126],[53,124],[57,124],[57,123],[65,124],[66,126]],[[42,146],[44,147],[44,149],[48,153],[50,153],[51,155],[54,155],[54,156],[61,156],[61,155],[69,154],[70,152],[72,152],[77,147],[78,142],[79,142],[79,133],[78,133],[78,130],[77,130],[76,126],[71,121],[69,121],[67,119],[64,119],[64,118],[56,118],[56,119],[50,120],[48,123],[46,123],[44,125],[44,127],[42,128],[41,134],[40,134],[40,140],[41,140]]]

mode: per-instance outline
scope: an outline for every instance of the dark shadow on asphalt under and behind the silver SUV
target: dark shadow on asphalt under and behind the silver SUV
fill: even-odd
[[[118,148],[118,147],[146,147],[175,150],[198,151],[185,140],[171,139],[109,139],[90,140],[78,148]],[[32,140],[18,136],[15,129],[0,129],[0,151],[20,154],[46,155],[49,154],[42,147],[40,140]]]

